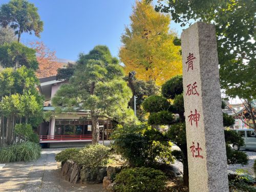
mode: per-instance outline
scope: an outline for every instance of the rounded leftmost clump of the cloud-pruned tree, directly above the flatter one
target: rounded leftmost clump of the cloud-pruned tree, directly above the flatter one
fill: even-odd
[[[146,112],[159,112],[168,110],[170,103],[162,96],[152,95],[143,101],[142,107]]]

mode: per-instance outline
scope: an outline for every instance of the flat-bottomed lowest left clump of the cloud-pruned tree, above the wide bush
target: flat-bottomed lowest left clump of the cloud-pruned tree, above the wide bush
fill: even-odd
[[[173,113],[168,111],[160,111],[156,113],[150,113],[148,116],[148,124],[156,124],[156,125],[168,125],[174,121]]]

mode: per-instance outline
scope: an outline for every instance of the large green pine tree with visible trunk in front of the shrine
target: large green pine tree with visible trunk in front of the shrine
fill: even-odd
[[[93,143],[99,140],[98,117],[118,122],[134,120],[127,108],[132,92],[123,80],[123,70],[117,58],[105,46],[96,46],[89,54],[80,54],[75,72],[68,84],[57,91],[52,103],[55,106],[90,110]]]

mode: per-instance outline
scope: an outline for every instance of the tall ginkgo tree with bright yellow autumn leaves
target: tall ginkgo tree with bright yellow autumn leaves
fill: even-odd
[[[136,1],[130,19],[119,50],[125,73],[135,71],[138,79],[154,80],[157,85],[182,74],[181,48],[173,43],[177,34],[169,29],[169,15]]]

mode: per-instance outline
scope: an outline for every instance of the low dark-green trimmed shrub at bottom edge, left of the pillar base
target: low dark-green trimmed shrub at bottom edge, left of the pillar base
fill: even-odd
[[[161,170],[154,168],[123,169],[116,175],[114,191],[116,192],[158,192],[165,188],[167,177]]]

